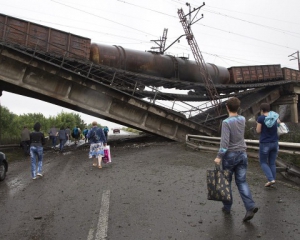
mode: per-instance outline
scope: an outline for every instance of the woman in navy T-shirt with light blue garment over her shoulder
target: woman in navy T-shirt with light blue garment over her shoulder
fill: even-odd
[[[259,139],[259,162],[268,179],[265,187],[275,184],[276,157],[278,154],[277,123],[279,115],[270,111],[270,104],[260,105],[260,116],[257,118],[256,132],[260,133]]]

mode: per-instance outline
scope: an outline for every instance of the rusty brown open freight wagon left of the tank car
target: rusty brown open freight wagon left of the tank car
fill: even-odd
[[[89,59],[91,39],[0,14],[0,41],[66,58]]]

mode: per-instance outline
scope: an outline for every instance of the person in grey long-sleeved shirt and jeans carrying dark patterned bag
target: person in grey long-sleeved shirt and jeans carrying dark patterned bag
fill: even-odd
[[[230,214],[233,203],[231,181],[234,175],[235,183],[246,209],[246,215],[243,218],[243,221],[246,222],[254,217],[258,207],[252,199],[246,181],[248,166],[247,146],[244,139],[246,120],[243,116],[238,115],[239,107],[240,100],[236,97],[229,98],[226,102],[226,110],[229,116],[222,122],[220,149],[214,162],[217,165],[222,164],[223,171],[229,172],[228,191],[230,192],[230,198],[229,200],[222,200],[222,211],[225,214]]]

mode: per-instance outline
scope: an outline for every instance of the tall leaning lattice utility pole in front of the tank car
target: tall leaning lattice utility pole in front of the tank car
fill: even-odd
[[[180,22],[182,24],[183,30],[185,32],[185,36],[187,39],[188,44],[191,47],[191,50],[193,52],[195,61],[199,67],[199,71],[200,74],[202,75],[203,79],[204,79],[204,84],[205,84],[205,88],[206,88],[206,92],[210,98],[211,104],[215,109],[215,112],[217,113],[218,116],[220,116],[221,114],[221,100],[219,97],[219,94],[217,92],[217,89],[212,81],[212,78],[207,70],[207,66],[206,63],[204,61],[204,58],[201,54],[201,51],[198,47],[197,41],[194,37],[194,34],[192,32],[191,26],[198,22],[199,20],[201,20],[203,18],[203,14],[202,17],[200,19],[197,19],[195,21],[195,17],[198,14],[199,10],[201,7],[203,7],[205,5],[205,3],[203,3],[203,5],[201,5],[198,8],[194,8],[193,11],[191,11],[191,5],[189,3],[186,3],[186,5],[189,7],[189,13],[188,14],[184,14],[182,8],[178,9],[178,16],[180,19]],[[197,11],[197,13],[194,15],[194,17],[192,18],[192,13],[194,13],[195,11]],[[187,19],[187,16],[189,17],[189,19]]]

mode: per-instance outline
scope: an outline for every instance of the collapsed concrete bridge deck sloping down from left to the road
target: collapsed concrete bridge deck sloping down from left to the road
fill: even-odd
[[[146,102],[59,65],[1,45],[1,90],[64,106],[166,138],[184,141],[186,134],[217,131],[178,112]]]

